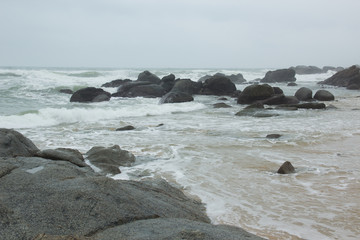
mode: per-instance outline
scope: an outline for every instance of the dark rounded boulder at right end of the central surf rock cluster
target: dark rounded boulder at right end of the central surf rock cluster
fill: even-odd
[[[230,79],[221,76],[213,76],[206,79],[200,94],[231,96],[236,91],[236,86]]]

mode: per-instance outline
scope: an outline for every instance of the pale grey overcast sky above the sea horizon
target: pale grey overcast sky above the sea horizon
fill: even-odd
[[[1,0],[0,66],[360,63],[359,0]]]

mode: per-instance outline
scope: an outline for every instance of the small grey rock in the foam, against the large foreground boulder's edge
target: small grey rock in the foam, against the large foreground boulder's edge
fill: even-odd
[[[111,174],[120,173],[119,166],[129,167],[135,162],[135,156],[126,150],[121,150],[119,145],[109,148],[93,147],[86,155],[92,164]]]

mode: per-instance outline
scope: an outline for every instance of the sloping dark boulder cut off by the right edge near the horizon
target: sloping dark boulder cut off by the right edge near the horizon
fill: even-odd
[[[350,68],[337,72],[330,78],[319,82],[319,84],[360,89],[360,67],[354,65]]]

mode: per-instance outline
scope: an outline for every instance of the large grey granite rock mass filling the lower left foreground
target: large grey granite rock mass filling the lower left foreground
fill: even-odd
[[[119,146],[87,155],[104,169],[134,161]],[[203,204],[164,180],[113,180],[77,150],[40,151],[10,129],[0,129],[0,193],[2,239],[261,239],[210,224]]]

